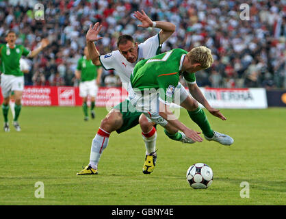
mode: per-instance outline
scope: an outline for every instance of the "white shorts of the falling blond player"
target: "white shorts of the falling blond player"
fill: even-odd
[[[176,87],[177,89],[175,92],[179,92],[177,96],[179,96],[179,100],[173,100],[174,103],[181,104],[189,94],[185,90],[185,88],[181,85],[181,83],[178,84]],[[165,127],[168,124],[168,121],[162,118],[159,115],[159,93],[158,92],[151,92],[148,95],[142,95],[142,93],[135,92],[131,86],[131,83],[129,83],[128,86],[128,93],[129,93],[129,99],[132,105],[138,110],[138,112],[142,112],[148,119],[148,121],[153,121],[154,123],[157,123],[158,125],[161,125]],[[176,95],[174,95],[176,98]],[[165,102],[166,103],[166,102]],[[170,103],[166,103],[170,105]]]

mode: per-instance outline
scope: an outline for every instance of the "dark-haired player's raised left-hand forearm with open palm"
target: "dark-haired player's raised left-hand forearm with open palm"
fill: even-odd
[[[101,62],[99,62],[99,51],[97,51],[94,42],[102,39],[102,37],[99,37],[99,31],[101,31],[102,25],[99,25],[99,22],[95,23],[95,25],[92,27],[90,25],[90,29],[88,29],[88,33],[86,34],[86,44],[88,46],[88,55],[90,56],[90,59],[92,60],[92,63],[96,66],[101,65]]]

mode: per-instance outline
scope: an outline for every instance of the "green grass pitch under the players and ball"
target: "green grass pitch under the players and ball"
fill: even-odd
[[[99,175],[77,176],[90,157],[92,138],[107,111],[83,121],[81,107],[23,107],[17,133],[0,131],[0,205],[285,205],[286,110],[222,110],[227,120],[207,116],[233,146],[216,142],[181,144],[157,128],[157,166],[142,173],[140,127],[112,133],[99,163]],[[198,130],[187,113],[180,118]],[[3,116],[1,116],[3,124]],[[10,114],[11,121],[11,114]],[[190,165],[213,169],[213,184],[194,190],[185,179]],[[44,185],[36,198],[35,183]],[[249,198],[240,183],[249,183]]]

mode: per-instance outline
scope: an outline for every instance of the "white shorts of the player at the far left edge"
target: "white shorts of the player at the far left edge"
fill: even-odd
[[[1,74],[1,90],[4,98],[10,96],[12,91],[23,91],[24,76]]]

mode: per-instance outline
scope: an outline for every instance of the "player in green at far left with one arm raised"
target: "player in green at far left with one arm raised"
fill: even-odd
[[[13,125],[16,131],[21,131],[18,124],[18,117],[21,112],[21,99],[24,90],[24,74],[20,70],[20,58],[22,55],[26,57],[34,57],[49,44],[49,40],[42,39],[40,47],[29,51],[22,45],[16,45],[16,34],[14,31],[8,31],[5,38],[7,44],[0,44],[0,59],[1,59],[1,90],[3,94],[3,116],[4,116],[4,131],[10,131],[8,123],[10,93],[14,91],[15,99],[15,116]]]

